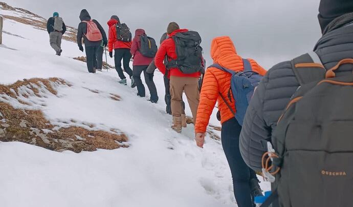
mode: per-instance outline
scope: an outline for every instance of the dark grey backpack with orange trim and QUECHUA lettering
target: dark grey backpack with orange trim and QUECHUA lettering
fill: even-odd
[[[343,64],[353,59],[327,71],[314,52],[292,60],[300,87],[262,160],[265,177],[275,176],[274,206],[353,206],[353,74],[336,77]]]

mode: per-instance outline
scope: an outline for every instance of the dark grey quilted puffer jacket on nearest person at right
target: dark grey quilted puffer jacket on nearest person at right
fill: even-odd
[[[326,69],[334,67],[342,59],[353,58],[353,14],[339,18],[327,26],[314,48]],[[351,73],[352,66],[346,64],[339,68],[337,75]],[[261,169],[261,157],[266,151],[261,140],[271,140],[277,120],[298,87],[291,61],[274,66],[261,80],[240,134],[241,155],[252,169]]]

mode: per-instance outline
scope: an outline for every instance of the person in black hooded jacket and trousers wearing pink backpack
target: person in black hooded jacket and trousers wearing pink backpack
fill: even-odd
[[[96,60],[96,53],[101,45],[102,39],[99,41],[95,41],[95,42],[92,42],[87,39],[87,37],[85,35],[85,34],[87,34],[87,23],[82,22],[82,21],[90,21],[91,20],[91,16],[87,12],[87,10],[83,9],[81,11],[80,20],[81,20],[81,22],[77,27],[77,30],[78,30],[77,31],[77,45],[78,45],[78,48],[83,52],[83,47],[82,47],[82,37],[83,37],[83,43],[84,43],[84,47],[86,50],[87,68],[90,73],[95,73],[94,65],[95,65],[95,61],[97,61]],[[102,34],[103,47],[107,46],[108,41],[107,41],[104,29],[97,22],[97,20],[93,19],[93,22],[97,25],[100,33]]]

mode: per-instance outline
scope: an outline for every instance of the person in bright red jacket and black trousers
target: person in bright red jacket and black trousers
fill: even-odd
[[[122,42],[117,39],[117,24],[120,24],[119,17],[113,15],[111,19],[108,21],[109,26],[109,38],[108,38],[108,50],[109,56],[113,58],[113,49],[114,49],[114,60],[115,60],[115,70],[117,70],[120,77],[120,84],[126,85],[126,77],[123,73],[123,69],[121,68],[121,60],[123,60],[124,71],[129,75],[131,79],[131,88],[134,88],[135,81],[133,77],[133,70],[131,70],[129,64],[131,59],[131,42]]]

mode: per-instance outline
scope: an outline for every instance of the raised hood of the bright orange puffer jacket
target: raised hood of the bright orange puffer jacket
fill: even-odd
[[[219,63],[220,58],[236,55],[234,44],[229,36],[216,37],[211,44],[211,57],[214,63]]]

